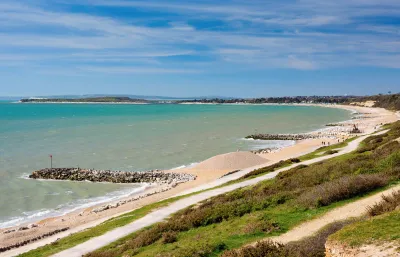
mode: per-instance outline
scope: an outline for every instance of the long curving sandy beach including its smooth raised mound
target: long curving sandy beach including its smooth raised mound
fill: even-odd
[[[312,132],[316,133],[319,138],[298,141],[293,146],[286,147],[277,151],[257,155],[250,152],[234,152],[222,154],[211,157],[210,159],[205,160],[191,168],[172,170],[171,172],[184,172],[196,175],[197,179],[194,181],[186,182],[184,184],[179,184],[178,186],[170,190],[160,193],[154,192],[162,191],[162,188],[160,186],[153,185],[147,188],[144,192],[140,193],[140,195],[142,196],[150,194],[149,196],[126,202],[125,204],[115,208],[110,208],[101,212],[94,213],[94,209],[104,206],[104,204],[101,204],[99,206],[77,210],[61,217],[44,219],[35,223],[35,226],[31,226],[31,228],[27,230],[18,231],[19,228],[25,227],[29,224],[18,226],[15,228],[17,231],[11,233],[4,233],[5,231],[10,230],[10,228],[1,229],[0,248],[8,247],[10,245],[14,245],[16,243],[29,239],[37,238],[44,234],[51,233],[55,230],[68,228],[68,230],[66,230],[65,232],[61,232],[46,239],[42,239],[46,240],[49,243],[55,241],[57,238],[65,237],[71,233],[93,227],[106,221],[107,219],[110,219],[111,217],[130,212],[147,204],[167,199],[175,195],[179,195],[183,192],[193,190],[194,188],[198,188],[200,186],[202,188],[210,188],[213,186],[213,182],[234,171],[250,167],[268,166],[280,160],[301,156],[321,147],[322,142],[327,142],[331,145],[341,142],[351,136],[349,134],[349,131],[354,127],[354,125],[356,125],[363,132],[362,134],[369,134],[378,130],[380,125],[391,123],[398,119],[396,113],[382,108],[344,105],[318,106],[350,110],[354,113],[357,113],[356,118],[349,121],[341,122],[339,126],[330,126],[326,129]],[[225,179],[229,180],[229,176],[232,175],[227,175]],[[232,176],[232,179],[234,179],[234,176]],[[132,197],[133,196],[130,196],[125,200],[132,199]],[[115,201],[109,204],[115,204]]]

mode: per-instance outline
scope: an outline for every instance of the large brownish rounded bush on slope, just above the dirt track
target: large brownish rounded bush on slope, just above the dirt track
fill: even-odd
[[[300,196],[298,202],[305,207],[320,207],[370,192],[388,184],[381,174],[343,177],[321,184]]]

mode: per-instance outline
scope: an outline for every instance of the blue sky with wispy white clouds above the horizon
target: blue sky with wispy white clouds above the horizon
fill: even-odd
[[[399,0],[0,1],[0,96],[389,91]]]

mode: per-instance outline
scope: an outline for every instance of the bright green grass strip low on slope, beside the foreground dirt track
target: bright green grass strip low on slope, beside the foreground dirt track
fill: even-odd
[[[218,254],[222,253],[225,249],[237,248],[243,244],[260,240],[266,236],[284,233],[296,224],[305,221],[310,217],[322,215],[329,209],[330,208],[321,208],[318,210],[298,212],[294,208],[285,206],[273,208],[266,212],[258,211],[244,215],[238,219],[226,220],[210,226],[202,226],[197,229],[181,232],[178,234],[177,242],[172,244],[163,244],[162,241],[159,241],[155,244],[142,247],[140,250],[135,252],[135,256],[198,256],[195,249],[204,250],[205,248],[209,249],[209,252],[204,256]],[[249,224],[264,224],[268,229],[260,229],[262,226],[259,226],[258,228],[249,230]],[[125,246],[125,242],[129,240],[129,238],[137,236],[138,234],[140,234],[140,232],[103,248],[100,251],[100,254],[107,252],[116,253],[118,249]],[[221,243],[224,244],[224,249],[220,248]],[[218,248],[218,250],[214,250],[216,248]],[[191,250],[188,251],[188,249]],[[127,249],[123,255],[134,253],[129,252],[130,250],[132,249]],[[101,255],[94,254],[94,256]]]

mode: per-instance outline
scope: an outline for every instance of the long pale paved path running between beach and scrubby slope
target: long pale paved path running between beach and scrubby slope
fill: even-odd
[[[377,133],[377,134],[383,134],[383,133],[386,133],[386,132],[387,132],[387,130],[386,131],[382,131],[382,132]],[[233,184],[233,185],[229,185],[229,186],[225,186],[225,187],[209,190],[209,191],[206,191],[206,192],[203,192],[203,193],[199,193],[197,195],[193,195],[193,196],[189,196],[187,198],[181,199],[179,201],[176,201],[176,202],[170,204],[169,206],[160,208],[160,209],[158,209],[158,210],[146,215],[145,217],[140,218],[140,219],[138,219],[138,220],[136,220],[136,221],[124,226],[124,227],[120,227],[120,228],[114,229],[114,230],[112,230],[110,232],[107,232],[106,234],[104,234],[102,236],[92,238],[92,239],[90,239],[90,240],[88,240],[88,241],[86,241],[86,242],[84,242],[84,243],[82,243],[80,245],[77,245],[77,246],[75,246],[73,248],[67,249],[67,250],[65,250],[63,252],[60,252],[58,254],[55,254],[53,256],[55,256],[55,257],[78,257],[78,256],[82,256],[82,255],[87,254],[89,252],[95,251],[95,250],[97,250],[97,249],[99,249],[101,247],[104,247],[104,246],[106,246],[106,245],[108,245],[108,244],[110,244],[110,243],[112,243],[112,242],[114,242],[114,241],[116,241],[116,240],[118,240],[118,239],[120,239],[122,237],[125,237],[125,236],[127,236],[127,235],[129,235],[129,234],[131,234],[131,233],[133,233],[135,231],[138,231],[138,230],[140,230],[142,228],[145,228],[147,226],[150,226],[150,225],[153,225],[153,224],[155,224],[157,222],[160,222],[160,221],[164,220],[165,218],[167,218],[168,216],[170,216],[171,214],[173,214],[173,213],[175,213],[175,212],[177,212],[179,210],[182,210],[182,209],[184,209],[186,207],[189,207],[189,206],[191,206],[193,204],[196,204],[198,202],[206,200],[206,199],[208,199],[210,197],[217,196],[217,195],[220,195],[220,194],[224,194],[224,193],[233,191],[233,190],[241,188],[241,187],[254,185],[254,184],[257,184],[258,182],[263,181],[263,180],[272,179],[272,178],[276,177],[276,175],[278,175],[279,173],[281,173],[283,171],[286,171],[286,170],[289,170],[289,169],[292,169],[292,168],[294,168],[294,167],[296,167],[298,165],[310,165],[310,164],[317,163],[317,162],[320,162],[320,161],[323,161],[323,160],[327,160],[327,159],[330,159],[330,158],[333,158],[333,157],[336,157],[336,156],[339,156],[339,155],[350,153],[350,152],[354,151],[358,147],[359,143],[362,140],[364,140],[366,137],[368,137],[368,136],[369,135],[365,135],[365,136],[361,136],[361,137],[355,139],[354,141],[350,142],[348,144],[348,146],[344,147],[337,154],[332,154],[332,155],[329,155],[329,156],[322,156],[322,157],[318,157],[318,158],[315,158],[315,159],[312,159],[312,160],[308,160],[308,161],[304,161],[304,162],[301,162],[301,163],[297,163],[297,164],[291,165],[290,167],[279,169],[277,171],[268,173],[266,175],[263,175],[263,176],[260,176],[260,177],[254,178],[254,179],[250,179],[250,180],[246,180],[246,181],[243,181],[243,182],[240,182],[240,183],[236,183],[236,184]],[[248,172],[249,172],[251,170],[254,170],[254,167],[246,169],[246,170],[248,170]]]

